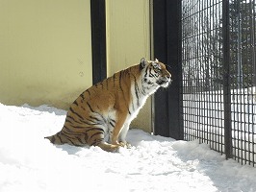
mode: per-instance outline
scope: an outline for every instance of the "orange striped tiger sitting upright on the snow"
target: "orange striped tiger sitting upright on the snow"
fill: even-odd
[[[56,145],[98,146],[116,152],[128,146],[126,135],[146,99],[171,83],[159,60],[145,60],[90,86],[67,110],[62,131],[45,138]]]

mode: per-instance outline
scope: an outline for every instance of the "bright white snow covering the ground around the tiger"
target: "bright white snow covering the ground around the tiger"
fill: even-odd
[[[0,191],[256,191],[256,169],[198,140],[130,130],[131,149],[55,146],[65,111],[0,104]]]

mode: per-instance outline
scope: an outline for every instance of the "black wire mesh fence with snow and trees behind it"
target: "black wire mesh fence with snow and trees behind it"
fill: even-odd
[[[255,0],[182,0],[184,137],[253,166],[255,22]]]

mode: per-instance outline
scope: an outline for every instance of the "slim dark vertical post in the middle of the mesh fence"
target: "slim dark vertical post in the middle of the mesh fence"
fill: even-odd
[[[229,0],[222,1],[222,36],[223,36],[223,100],[224,100],[224,139],[226,158],[232,158],[232,126],[231,126],[231,85],[230,85],[230,29]]]

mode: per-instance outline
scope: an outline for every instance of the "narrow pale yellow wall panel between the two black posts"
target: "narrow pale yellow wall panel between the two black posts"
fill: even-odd
[[[148,0],[106,0],[108,76],[150,59]],[[151,101],[148,99],[132,127],[151,131]]]

